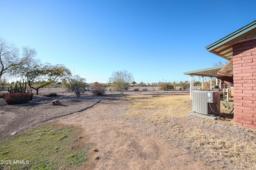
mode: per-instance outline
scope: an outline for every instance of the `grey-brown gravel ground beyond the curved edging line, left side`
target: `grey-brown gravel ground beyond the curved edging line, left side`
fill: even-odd
[[[81,94],[78,98],[73,93],[58,94],[56,97],[34,96],[28,104],[8,105],[0,98],[0,139],[22,127],[37,123],[44,119],[78,111],[91,106],[102,98],[113,98],[118,94],[92,96]],[[61,104],[52,106],[53,100],[60,100]]]

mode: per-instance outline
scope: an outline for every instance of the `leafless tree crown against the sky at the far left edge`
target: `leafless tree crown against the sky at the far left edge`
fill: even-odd
[[[0,37],[0,78],[3,74],[8,74],[14,70],[19,70],[23,64],[32,62],[37,52],[28,46],[20,50],[6,39]]]

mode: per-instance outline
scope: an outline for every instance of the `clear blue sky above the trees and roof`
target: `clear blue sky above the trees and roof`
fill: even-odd
[[[205,47],[256,20],[255,0],[226,1],[1,0],[0,36],[88,83],[123,69],[137,83],[185,81],[225,62]]]

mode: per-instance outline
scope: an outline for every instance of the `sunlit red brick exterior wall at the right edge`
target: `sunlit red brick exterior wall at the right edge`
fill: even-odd
[[[256,39],[233,45],[234,124],[256,129]]]

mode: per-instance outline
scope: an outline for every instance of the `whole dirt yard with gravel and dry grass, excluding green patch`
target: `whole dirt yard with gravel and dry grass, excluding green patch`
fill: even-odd
[[[234,126],[232,121],[187,115],[187,111],[192,110],[189,94],[130,92],[122,96],[107,94],[103,97],[84,94],[76,98],[79,102],[72,101],[73,98],[76,98],[74,94],[59,96],[62,105],[54,109],[49,105],[53,98],[43,96],[37,96],[32,104],[12,107],[0,99],[0,138],[8,137],[18,128],[36,121],[108,98],[90,109],[48,122],[82,128],[80,136],[84,143],[81,145],[90,144],[98,150],[88,152],[90,159],[78,168],[80,170],[256,167],[256,146],[253,142],[256,131]],[[170,100],[173,100],[172,103],[167,102]],[[28,116],[24,115],[24,111]],[[249,150],[247,145],[252,149]]]

